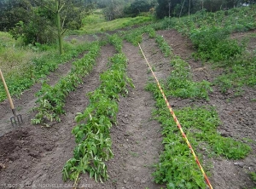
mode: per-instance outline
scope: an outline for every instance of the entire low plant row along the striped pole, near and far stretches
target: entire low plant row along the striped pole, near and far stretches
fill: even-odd
[[[136,40],[140,39],[138,36],[142,36],[141,32],[143,31],[153,33],[152,29],[137,30],[133,33],[134,36],[129,37],[128,40],[131,39],[131,43],[137,44]],[[159,44],[166,57],[172,57],[171,75],[166,81],[160,82],[167,96],[209,100],[208,92],[212,91],[211,83],[207,81],[194,82],[189,64],[179,56],[172,54],[172,49],[165,39],[157,35],[149,34],[149,36],[156,38],[156,43]],[[148,83],[146,89],[154,94],[156,110],[153,116],[162,124],[162,134],[164,135],[164,151],[160,155],[160,163],[155,165],[157,169],[154,172],[155,182],[166,183],[167,188],[205,188],[206,183],[201,171],[166,108],[166,102],[162,98],[158,86],[155,83]],[[183,130],[192,146],[199,146],[196,150],[203,152],[208,157],[221,155],[225,158],[239,159],[245,158],[251,150],[244,143],[224,138],[218,134],[217,127],[220,121],[218,113],[211,106],[185,107],[177,110],[176,114],[177,117],[182,117]],[[197,153],[197,155],[201,158],[201,153]]]

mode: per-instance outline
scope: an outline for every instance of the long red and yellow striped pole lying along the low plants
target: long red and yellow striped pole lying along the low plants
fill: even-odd
[[[139,48],[141,49],[141,51],[142,51],[142,53],[143,53],[143,49],[141,48],[140,43],[138,43],[138,45],[139,45]],[[189,142],[187,136],[186,136],[185,133],[183,132],[182,126],[181,126],[181,124],[178,122],[177,117],[176,117],[175,113],[173,112],[172,107],[171,107],[170,104],[169,104],[169,101],[168,101],[167,98],[166,98],[166,94],[164,93],[163,89],[161,88],[160,83],[159,83],[157,77],[155,76],[152,67],[149,65],[148,60],[147,60],[147,58],[146,58],[146,56],[145,56],[144,53],[143,53],[143,57],[144,57],[144,59],[146,60],[146,62],[147,62],[147,64],[148,64],[148,67],[149,67],[150,71],[152,72],[152,74],[153,74],[153,76],[154,76],[154,79],[155,79],[155,81],[156,81],[156,83],[157,83],[157,85],[158,85],[158,88],[160,89],[161,94],[163,95],[164,99],[166,100],[166,105],[167,105],[169,111],[171,112],[172,117],[173,117],[175,123],[177,124],[177,128],[180,130],[181,134],[183,135],[183,138],[186,140],[186,143],[187,143],[187,145],[189,146],[189,149],[190,149],[191,153],[193,154],[193,156],[194,156],[194,158],[195,158],[195,162],[198,164],[199,168],[201,169],[201,173],[202,173],[202,175],[204,176],[204,178],[205,178],[205,180],[206,180],[206,182],[207,182],[207,185],[210,187],[210,189],[212,189],[212,185],[211,185],[211,183],[210,183],[210,180],[208,179],[207,174],[205,173],[204,169],[202,168],[201,163],[199,162],[199,159],[198,159],[197,156],[195,155],[195,152],[194,152],[194,150],[193,150],[193,147],[191,146],[191,144],[190,144],[190,142]]]

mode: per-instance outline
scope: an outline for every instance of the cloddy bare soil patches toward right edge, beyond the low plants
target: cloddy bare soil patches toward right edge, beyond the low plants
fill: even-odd
[[[207,80],[212,82],[216,77],[223,74],[222,69],[212,70],[211,65],[203,65],[201,61],[192,58],[192,44],[188,38],[182,37],[177,31],[159,31],[165,37],[166,42],[172,47],[173,53],[179,55],[183,60],[188,61],[191,67],[194,81]],[[234,96],[235,91],[228,91],[222,94],[213,86],[213,92],[209,94],[210,100],[194,100],[170,98],[169,101],[175,108],[185,106],[213,106],[216,107],[222,124],[218,132],[225,137],[232,137],[236,140],[251,140],[248,144],[252,146],[252,152],[247,158],[240,160],[227,160],[225,158],[205,158],[207,164],[212,164],[210,170],[213,188],[251,188],[253,181],[249,173],[256,169],[256,102],[252,99],[256,96],[254,89],[244,87],[245,91],[241,96]],[[182,118],[182,117],[181,117]],[[237,182],[237,180],[240,180]]]

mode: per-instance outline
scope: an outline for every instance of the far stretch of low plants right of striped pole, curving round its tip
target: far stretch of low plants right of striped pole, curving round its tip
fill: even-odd
[[[172,54],[172,49],[166,43],[164,37],[156,34],[154,28],[151,26],[145,26],[131,32],[125,36],[125,39],[137,45],[142,40],[143,33],[148,33],[149,37],[155,38],[155,42],[165,57],[171,57],[172,72],[170,77],[166,80],[165,88],[167,89],[167,95],[172,95],[181,98],[203,98],[208,100],[208,91],[212,91],[211,83],[203,80],[201,82],[193,82],[192,75],[190,73],[190,67],[188,62],[182,60],[179,56]]]

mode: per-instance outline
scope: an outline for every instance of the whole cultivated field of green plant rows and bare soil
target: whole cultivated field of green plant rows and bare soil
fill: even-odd
[[[21,127],[1,102],[0,188],[207,188],[137,43],[212,187],[255,187],[256,26],[224,31],[228,15],[78,37],[79,54],[15,98]]]

